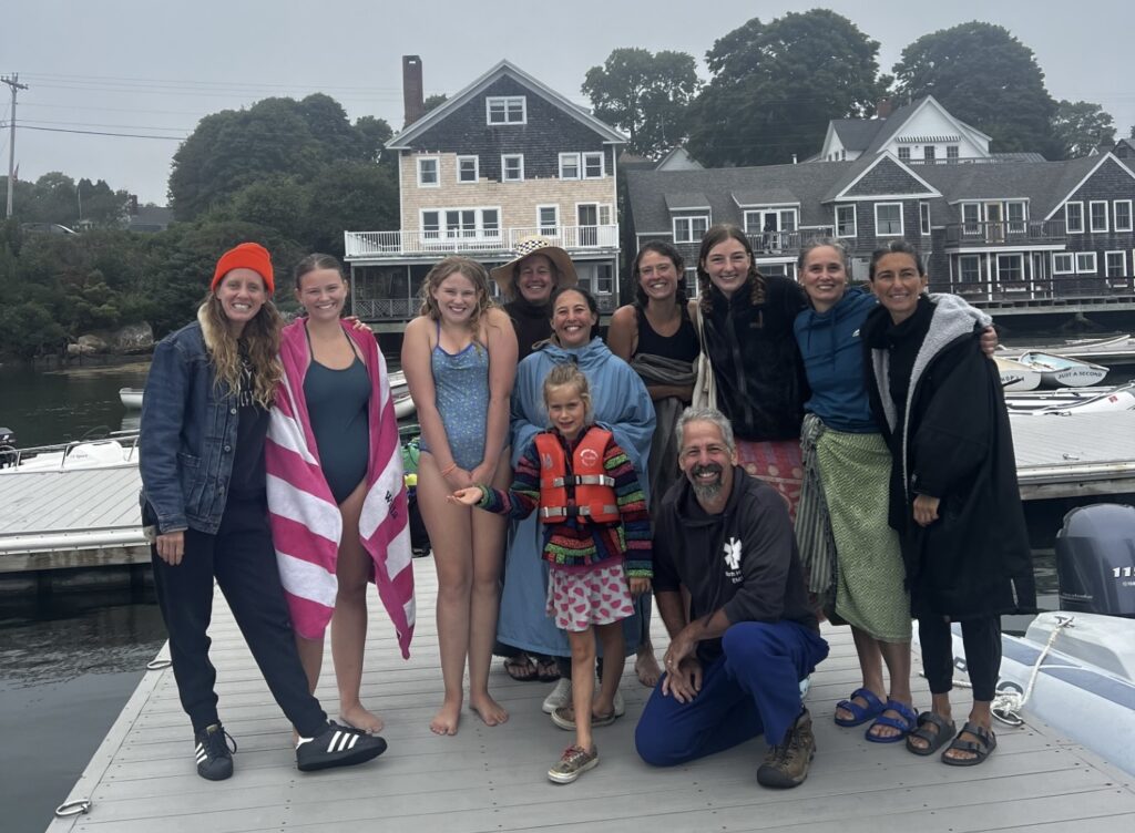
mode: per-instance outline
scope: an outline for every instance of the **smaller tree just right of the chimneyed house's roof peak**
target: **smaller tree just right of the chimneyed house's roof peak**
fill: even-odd
[[[686,138],[701,81],[686,52],[627,48],[588,69],[581,89],[597,117],[627,132],[631,151],[656,158]]]

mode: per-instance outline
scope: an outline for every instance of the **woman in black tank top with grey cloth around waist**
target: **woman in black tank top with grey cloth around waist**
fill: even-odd
[[[654,401],[657,427],[650,444],[650,513],[680,477],[678,416],[690,404],[699,344],[690,320],[683,284],[684,262],[669,243],[651,241],[634,258],[634,303],[611,318],[607,345],[646,384]],[[644,611],[642,639],[634,670],[644,685],[658,681],[659,668],[650,643],[649,609]]]

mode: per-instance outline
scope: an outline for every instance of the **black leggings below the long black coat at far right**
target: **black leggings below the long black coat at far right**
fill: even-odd
[[[953,640],[950,623],[943,616],[918,620],[923,667],[932,695],[953,688]],[[1001,671],[1001,617],[982,616],[961,621],[961,641],[966,648],[966,672],[974,687],[974,699],[990,702]]]

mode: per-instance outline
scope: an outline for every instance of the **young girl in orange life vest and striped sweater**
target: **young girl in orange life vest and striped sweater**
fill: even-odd
[[[508,491],[474,486],[451,499],[514,519],[539,511],[550,572],[547,613],[568,632],[574,692],[552,720],[574,729],[575,743],[548,779],[570,784],[599,763],[591,729],[615,721],[624,659],[619,623],[634,613],[632,595],[650,589],[650,522],[630,458],[611,431],[591,423],[587,377],[574,364],[557,365],[544,381],[544,403],[552,427],[524,452]],[[592,702],[596,634],[603,683]]]

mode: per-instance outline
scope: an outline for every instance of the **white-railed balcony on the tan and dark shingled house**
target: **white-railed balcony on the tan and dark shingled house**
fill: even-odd
[[[451,254],[505,261],[516,243],[540,235],[570,255],[613,254],[619,251],[619,226],[531,226],[505,229],[447,229],[443,232],[344,232],[346,260],[382,263],[429,261]]]

